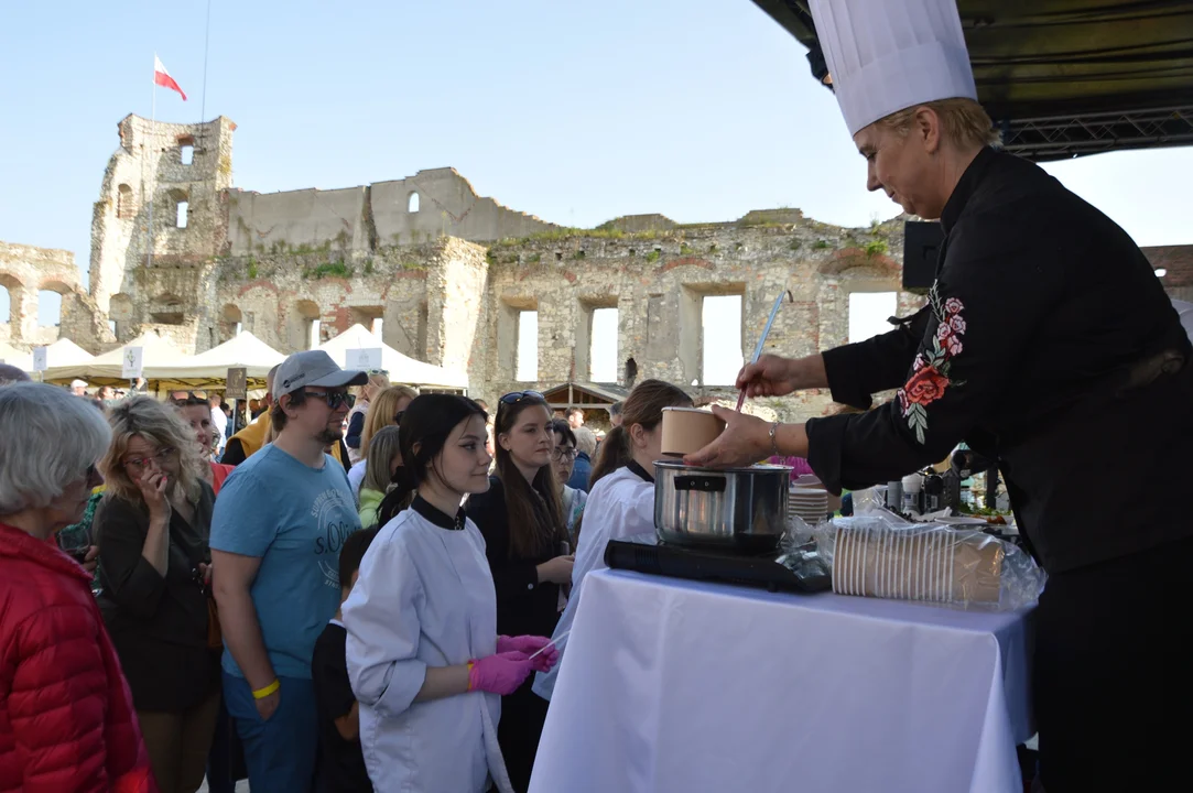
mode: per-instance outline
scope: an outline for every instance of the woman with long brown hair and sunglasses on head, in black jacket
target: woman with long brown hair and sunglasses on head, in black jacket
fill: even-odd
[[[551,636],[561,587],[571,583],[570,549],[551,475],[551,411],[536,391],[507,394],[497,404],[496,473],[489,490],[470,496],[468,516],[484,535],[497,590],[497,633]],[[497,741],[515,791],[530,787],[546,700],[532,677],[501,700]]]

